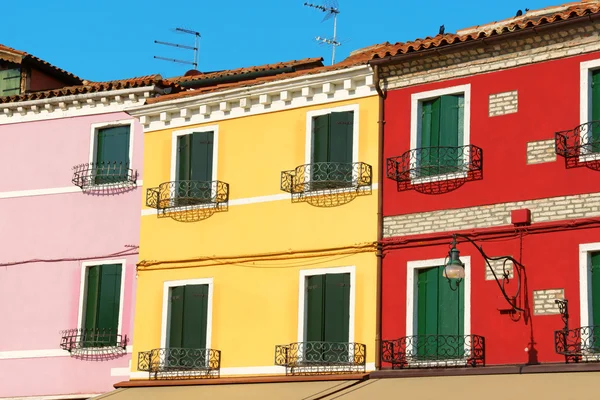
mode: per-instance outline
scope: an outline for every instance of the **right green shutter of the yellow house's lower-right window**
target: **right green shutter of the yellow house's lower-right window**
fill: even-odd
[[[347,343],[350,324],[350,274],[325,275],[326,342]]]

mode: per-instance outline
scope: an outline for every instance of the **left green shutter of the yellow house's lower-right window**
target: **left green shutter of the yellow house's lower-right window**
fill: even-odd
[[[324,340],[325,275],[306,278],[306,341]]]

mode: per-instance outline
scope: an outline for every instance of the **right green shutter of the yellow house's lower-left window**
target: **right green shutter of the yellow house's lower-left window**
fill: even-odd
[[[183,340],[181,347],[206,348],[208,285],[188,285],[184,290]]]

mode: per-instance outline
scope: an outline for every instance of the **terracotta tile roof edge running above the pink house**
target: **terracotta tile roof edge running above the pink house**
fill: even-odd
[[[131,89],[156,85],[161,88],[181,90],[178,84],[163,79],[160,75],[147,75],[136,78],[121,79],[108,82],[83,81],[82,85],[67,86],[60,89],[45,90],[41,92],[23,93],[20,95],[0,97],[1,103],[14,103],[18,101],[50,99],[54,97],[72,96],[77,94],[106,92],[110,90]]]

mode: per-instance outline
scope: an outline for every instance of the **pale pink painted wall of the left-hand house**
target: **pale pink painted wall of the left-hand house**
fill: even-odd
[[[93,258],[126,260],[120,333],[131,345],[137,250],[126,246],[139,244],[141,188],[98,196],[71,183],[72,167],[89,159],[91,124],[121,119],[131,117],[0,125],[0,398],[102,393],[128,379],[111,369],[127,369],[131,354],[84,361],[60,349],[60,331],[78,327],[82,262]],[[138,123],[133,135],[141,179]],[[17,192],[40,189],[59,193]],[[6,265],[32,259],[52,261]]]

